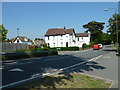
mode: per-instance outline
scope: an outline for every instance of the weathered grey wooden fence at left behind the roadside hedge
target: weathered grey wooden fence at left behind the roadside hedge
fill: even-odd
[[[8,53],[21,49],[27,49],[27,44],[2,42],[2,52]]]

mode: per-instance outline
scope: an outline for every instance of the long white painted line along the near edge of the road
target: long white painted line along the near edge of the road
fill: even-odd
[[[93,59],[90,59],[88,61],[93,61],[93,60],[97,60],[98,58],[100,58],[102,55],[98,56],[98,57],[95,57]],[[87,61],[87,62],[88,62]],[[75,64],[75,65],[72,65],[72,66],[69,66],[69,67],[66,67],[66,68],[62,68],[62,69],[59,69],[59,71],[62,71],[62,70],[65,70],[65,69],[68,69],[68,68],[71,68],[71,67],[74,67],[74,66],[78,66],[78,65],[81,65],[81,64],[84,64],[86,62],[82,62],[82,63],[78,63],[78,64]],[[32,80],[32,79],[35,79],[35,78],[38,78],[38,77],[41,77],[43,78],[44,76],[46,75],[49,75],[50,73],[45,73],[43,75],[38,75],[36,77],[31,77],[31,78],[27,78],[27,79],[24,79],[24,80],[21,80],[21,81],[17,81],[17,82],[13,82],[11,84],[7,84],[7,85],[4,85],[4,86],[1,86],[0,89],[2,88],[6,88],[6,87],[9,87],[9,86],[13,86],[13,85],[16,85],[16,84],[19,84],[19,83],[22,83],[22,82],[26,82],[26,81],[29,81],[29,80]]]

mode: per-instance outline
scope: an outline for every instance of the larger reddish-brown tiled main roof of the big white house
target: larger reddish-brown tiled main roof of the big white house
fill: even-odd
[[[45,36],[72,34],[73,32],[74,29],[54,28],[54,29],[48,29]]]

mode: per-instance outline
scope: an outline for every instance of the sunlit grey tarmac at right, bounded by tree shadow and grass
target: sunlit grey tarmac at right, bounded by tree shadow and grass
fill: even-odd
[[[115,52],[103,55],[96,60],[96,63],[105,69],[94,69],[93,71],[85,71],[85,74],[101,77],[111,80],[112,88],[118,88],[118,57]]]

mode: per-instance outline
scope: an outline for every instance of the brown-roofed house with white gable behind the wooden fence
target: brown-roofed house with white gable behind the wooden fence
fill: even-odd
[[[32,45],[33,41],[27,37],[24,37],[24,36],[17,36],[13,39],[10,39],[9,42],[10,43],[27,43],[28,45]]]

